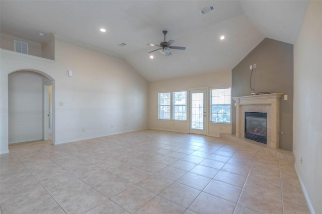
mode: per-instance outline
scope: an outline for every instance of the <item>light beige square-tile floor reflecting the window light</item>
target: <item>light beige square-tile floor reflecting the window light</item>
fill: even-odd
[[[295,169],[226,140],[143,130],[0,155],[2,213],[310,213]]]

